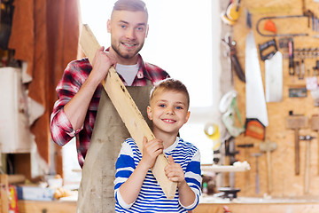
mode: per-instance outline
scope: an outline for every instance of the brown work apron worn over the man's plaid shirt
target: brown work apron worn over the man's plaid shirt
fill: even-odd
[[[146,107],[149,105],[151,81],[144,87],[127,87],[136,106],[149,122]],[[102,89],[97,109],[97,120],[82,168],[82,180],[77,201],[78,213],[115,212],[114,184],[115,162],[121,144],[129,138],[111,99]]]

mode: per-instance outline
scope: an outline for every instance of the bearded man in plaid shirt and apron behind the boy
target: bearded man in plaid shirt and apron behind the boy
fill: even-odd
[[[116,2],[107,22],[111,47],[107,51],[101,47],[91,61],[92,66],[88,59],[69,63],[58,83],[51,135],[59,146],[74,136],[77,139],[78,160],[83,167],[78,212],[113,212],[114,209],[114,163],[121,142],[129,133],[102,90],[101,81],[109,68],[116,68],[145,118],[152,84],[168,77],[164,70],[145,63],[138,54],[147,36],[147,20],[147,9],[141,0]]]

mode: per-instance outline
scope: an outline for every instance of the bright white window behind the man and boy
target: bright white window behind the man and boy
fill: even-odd
[[[82,22],[89,24],[101,45],[108,47],[110,36],[106,32],[106,21],[115,0],[80,2]],[[145,61],[164,68],[188,87],[191,118],[183,126],[181,136],[198,146],[202,163],[212,163],[213,142],[206,137],[204,127],[206,122],[219,120],[219,3],[212,0],[144,2],[149,12],[150,30],[141,55]],[[77,159],[67,162],[74,160]]]

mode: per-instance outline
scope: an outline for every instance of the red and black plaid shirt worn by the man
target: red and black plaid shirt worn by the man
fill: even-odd
[[[144,62],[140,55],[138,64],[140,68],[132,86],[146,86],[147,79],[151,80],[154,84],[169,77],[167,72],[161,68]],[[64,106],[74,97],[76,92],[80,90],[82,84],[88,78],[91,69],[92,67],[88,59],[74,60],[67,65],[64,75],[56,89],[58,92],[58,100],[55,102],[51,114],[51,136],[53,141],[58,144],[58,146],[64,146],[75,136],[77,155],[81,167],[83,166],[84,158],[89,148],[89,141],[97,116],[97,106],[101,97],[102,84],[100,83],[97,86],[97,90],[89,103],[89,109],[82,128],[79,130],[73,129],[71,122],[64,112]],[[127,85],[122,77],[121,80],[124,85]]]

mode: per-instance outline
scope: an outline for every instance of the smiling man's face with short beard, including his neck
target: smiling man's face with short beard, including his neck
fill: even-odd
[[[144,45],[147,29],[145,12],[113,12],[111,20],[107,22],[107,31],[111,33],[111,47],[118,63],[136,64],[137,53]]]

